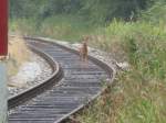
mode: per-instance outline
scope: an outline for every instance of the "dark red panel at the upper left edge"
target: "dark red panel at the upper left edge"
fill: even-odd
[[[8,0],[0,0],[0,56],[8,54]]]

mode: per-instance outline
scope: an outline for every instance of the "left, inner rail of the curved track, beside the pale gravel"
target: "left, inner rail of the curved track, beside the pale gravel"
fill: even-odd
[[[48,77],[45,80],[41,81],[40,83],[20,92],[17,96],[12,96],[8,99],[8,109],[12,109],[18,107],[19,104],[32,99],[33,97],[40,94],[48,88],[52,87],[55,82],[58,82],[62,76],[63,76],[63,70],[60,67],[60,65],[48,54],[43,53],[41,49],[38,49],[37,47],[32,45],[28,45],[29,48],[44,58],[49,65],[51,66],[53,72],[50,77]]]

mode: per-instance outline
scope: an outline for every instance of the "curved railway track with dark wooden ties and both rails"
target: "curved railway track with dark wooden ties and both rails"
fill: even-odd
[[[14,108],[9,123],[61,123],[100,96],[104,81],[114,78],[114,70],[92,56],[85,65],[76,51],[52,40],[25,40],[35,51],[48,54],[56,70],[43,85],[9,99],[9,110]]]

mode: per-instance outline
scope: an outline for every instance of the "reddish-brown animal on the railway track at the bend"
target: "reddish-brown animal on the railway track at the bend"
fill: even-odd
[[[83,43],[79,49],[80,52],[80,59],[82,62],[87,62],[87,54],[89,54],[89,49],[87,49],[87,41],[89,41],[89,36],[84,36],[83,37]]]

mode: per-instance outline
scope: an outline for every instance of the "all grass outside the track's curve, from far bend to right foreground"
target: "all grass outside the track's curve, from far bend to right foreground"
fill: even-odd
[[[27,26],[28,24],[29,26]],[[20,26],[21,25],[21,26]],[[34,25],[34,26],[33,26]],[[33,20],[11,22],[11,31],[50,36],[70,42],[91,35],[90,45],[127,60],[129,71],[121,71],[114,85],[76,115],[81,123],[165,123],[166,121],[166,26],[151,22],[114,20],[106,27],[91,25],[82,18],[58,15],[40,27]],[[93,27],[92,27],[93,26]]]

